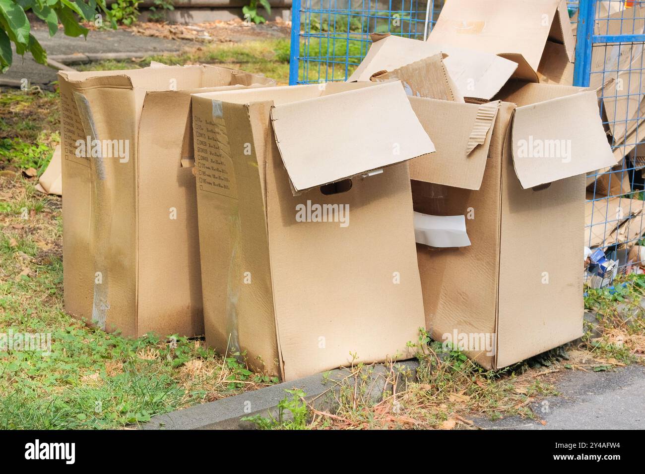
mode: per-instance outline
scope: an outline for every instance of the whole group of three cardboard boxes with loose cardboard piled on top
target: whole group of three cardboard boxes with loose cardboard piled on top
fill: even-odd
[[[66,310],[284,380],[412,357],[421,327],[487,368],[571,341],[585,175],[616,164],[572,58],[564,2],[451,0],[347,83],[61,73]]]

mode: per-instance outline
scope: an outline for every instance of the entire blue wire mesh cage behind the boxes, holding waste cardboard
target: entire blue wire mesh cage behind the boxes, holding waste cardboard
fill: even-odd
[[[444,1],[450,0],[293,0],[289,83],[345,81],[366,55],[373,33],[424,40]],[[628,257],[645,232],[645,146],[638,146],[645,142],[645,0],[567,5],[576,35],[573,84],[599,90],[600,115],[620,160],[587,176],[584,246],[617,260],[619,273],[642,272],[634,265],[643,261],[640,252],[637,259]],[[600,66],[592,59],[601,60]],[[582,250],[581,242],[581,261]]]

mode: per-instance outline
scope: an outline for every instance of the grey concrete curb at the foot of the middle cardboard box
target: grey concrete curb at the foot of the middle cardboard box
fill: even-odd
[[[395,364],[395,371],[399,372],[397,390],[401,390],[401,385],[404,386],[407,380],[416,378],[417,368],[419,368],[417,360],[406,360]],[[363,387],[366,388],[364,396],[368,396],[372,400],[380,400],[384,391],[392,390],[391,385],[386,386],[386,377],[390,370],[385,366],[380,364],[373,366],[372,370],[366,373],[368,375],[363,384]],[[338,382],[347,379],[350,374],[350,370],[347,369],[317,373],[304,379],[283,382],[214,402],[195,405],[184,410],[157,415],[150,422],[139,426],[139,429],[244,430],[253,428],[251,422],[244,422],[240,419],[253,415],[277,417],[278,403],[288,397],[285,390],[293,388],[303,390],[306,393],[306,400],[312,402],[317,410],[333,410],[337,406],[334,395],[337,395],[341,390],[341,385]]]

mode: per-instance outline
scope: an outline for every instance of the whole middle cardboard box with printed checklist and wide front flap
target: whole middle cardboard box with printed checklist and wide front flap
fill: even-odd
[[[206,342],[284,380],[405,356],[424,319],[402,162],[434,146],[401,83],[196,94],[193,115]]]

